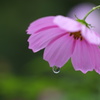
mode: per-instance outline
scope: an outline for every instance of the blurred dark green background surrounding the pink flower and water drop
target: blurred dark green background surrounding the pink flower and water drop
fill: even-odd
[[[75,71],[69,61],[54,74],[42,58],[43,50],[28,49],[26,29],[32,21],[51,15],[73,17],[71,10],[81,3],[99,5],[100,0],[0,1],[0,100],[100,100],[100,75],[95,71]],[[97,15],[91,16],[93,21]],[[100,16],[94,22],[97,27],[99,22]]]

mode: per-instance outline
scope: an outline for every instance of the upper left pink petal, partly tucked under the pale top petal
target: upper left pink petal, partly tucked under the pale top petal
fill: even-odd
[[[53,23],[54,18],[55,18],[54,16],[48,16],[48,17],[43,17],[32,22],[27,29],[27,34],[33,34],[39,31],[40,29],[55,26]]]

